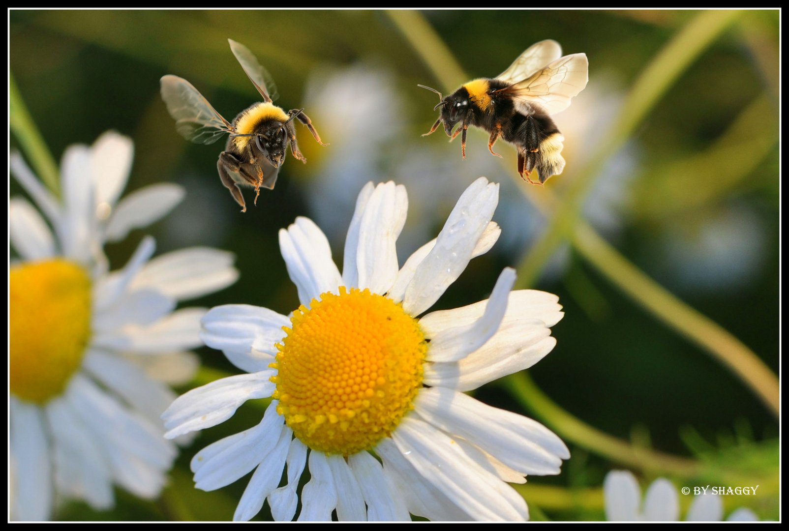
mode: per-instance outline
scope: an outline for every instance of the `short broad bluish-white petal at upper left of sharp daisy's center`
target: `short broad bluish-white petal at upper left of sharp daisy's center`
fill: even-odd
[[[289,327],[290,319],[258,306],[223,305],[212,308],[201,323],[206,345],[222,350],[237,368],[257,372],[274,362],[275,343],[282,342],[282,327]]]

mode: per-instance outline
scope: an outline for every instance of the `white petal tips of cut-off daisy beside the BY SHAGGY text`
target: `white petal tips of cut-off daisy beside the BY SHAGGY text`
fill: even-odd
[[[603,484],[605,515],[609,522],[677,522],[679,494],[674,484],[659,477],[647,489],[641,507],[641,488],[628,470],[611,470]],[[724,503],[718,495],[697,495],[686,514],[687,522],[720,522]],[[729,514],[728,522],[756,522],[753,511],[742,507]]]

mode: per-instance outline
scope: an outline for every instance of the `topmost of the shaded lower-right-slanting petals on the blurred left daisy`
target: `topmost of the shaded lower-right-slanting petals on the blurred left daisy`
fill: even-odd
[[[109,389],[142,413],[151,424],[160,425],[160,418],[167,406],[175,400],[175,393],[161,382],[151,380],[145,372],[125,361],[100,350],[89,350],[83,361],[84,368]]]

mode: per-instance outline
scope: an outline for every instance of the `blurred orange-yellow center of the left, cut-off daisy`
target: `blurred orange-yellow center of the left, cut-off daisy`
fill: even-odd
[[[62,393],[91,333],[91,280],[68,260],[11,268],[11,392],[43,404]]]

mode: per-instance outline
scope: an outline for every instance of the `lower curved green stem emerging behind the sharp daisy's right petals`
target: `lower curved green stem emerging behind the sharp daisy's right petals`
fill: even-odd
[[[622,439],[609,436],[585,424],[559,407],[525,371],[510,374],[501,380],[507,391],[540,421],[548,424],[563,439],[613,462],[645,472],[669,474],[676,477],[696,477],[701,467],[690,459],[679,458],[648,448],[633,447]]]

